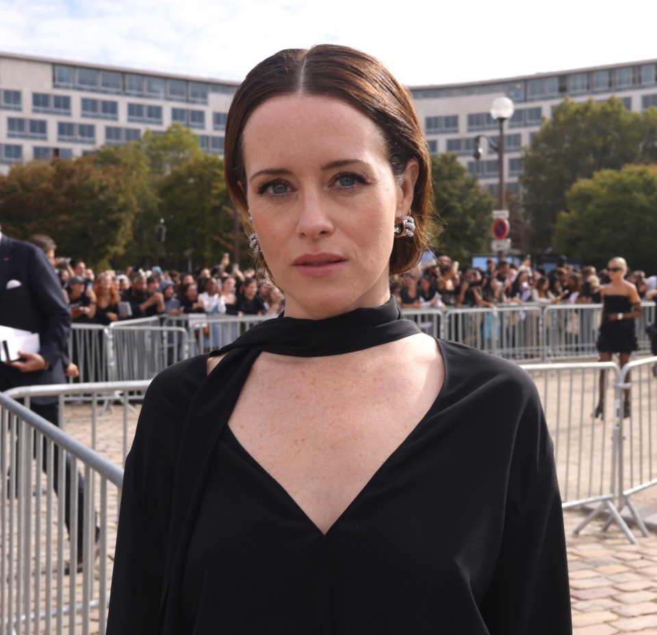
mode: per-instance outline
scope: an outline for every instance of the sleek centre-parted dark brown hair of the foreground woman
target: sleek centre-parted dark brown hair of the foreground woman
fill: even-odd
[[[396,177],[401,177],[409,160],[417,159],[419,173],[410,212],[415,236],[396,239],[390,256],[391,275],[412,269],[424,252],[427,221],[433,211],[430,158],[408,90],[381,62],[361,51],[328,44],[287,49],[246,75],[233,97],[224,140],[226,183],[233,203],[246,221],[242,137],[248,118],[267,99],[296,93],[342,99],[368,116],[383,132]],[[265,265],[261,255],[259,264]]]

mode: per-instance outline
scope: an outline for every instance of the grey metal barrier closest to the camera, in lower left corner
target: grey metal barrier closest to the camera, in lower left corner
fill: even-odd
[[[0,419],[0,631],[104,633],[112,576],[107,532],[118,513],[110,500],[118,499],[123,470],[4,393]],[[70,488],[64,486],[67,454]],[[76,566],[79,469],[84,477],[81,573]],[[65,500],[70,501],[68,541]],[[67,563],[73,564],[68,574]]]

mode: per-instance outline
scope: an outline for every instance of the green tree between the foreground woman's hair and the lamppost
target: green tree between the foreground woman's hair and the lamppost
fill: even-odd
[[[444,153],[431,158],[435,207],[435,249],[459,262],[490,251],[495,199],[456,159]]]

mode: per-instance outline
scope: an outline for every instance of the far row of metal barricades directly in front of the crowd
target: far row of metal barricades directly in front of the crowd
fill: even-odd
[[[555,362],[597,357],[600,304],[505,305],[492,308],[404,309],[425,333],[473,346],[517,362]],[[74,324],[69,357],[80,377],[71,383],[150,379],[166,366],[231,343],[268,316],[183,314]],[[645,325],[655,303],[643,303],[636,321],[639,353],[649,353]]]

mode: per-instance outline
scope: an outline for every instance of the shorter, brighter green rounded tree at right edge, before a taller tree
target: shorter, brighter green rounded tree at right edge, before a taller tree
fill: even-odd
[[[605,266],[623,256],[633,269],[657,269],[657,166],[628,165],[580,179],[559,214],[557,251]]]

